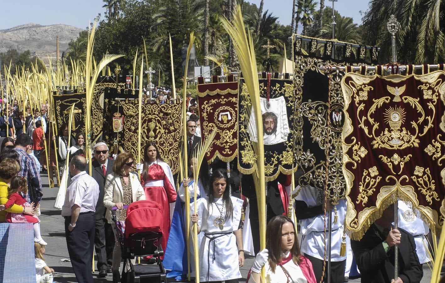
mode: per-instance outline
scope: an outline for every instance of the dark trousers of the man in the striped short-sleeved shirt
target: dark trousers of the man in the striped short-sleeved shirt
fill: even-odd
[[[93,283],[94,213],[82,213],[77,218],[73,231],[68,230],[71,216],[65,218],[65,238],[69,258],[79,283]]]

